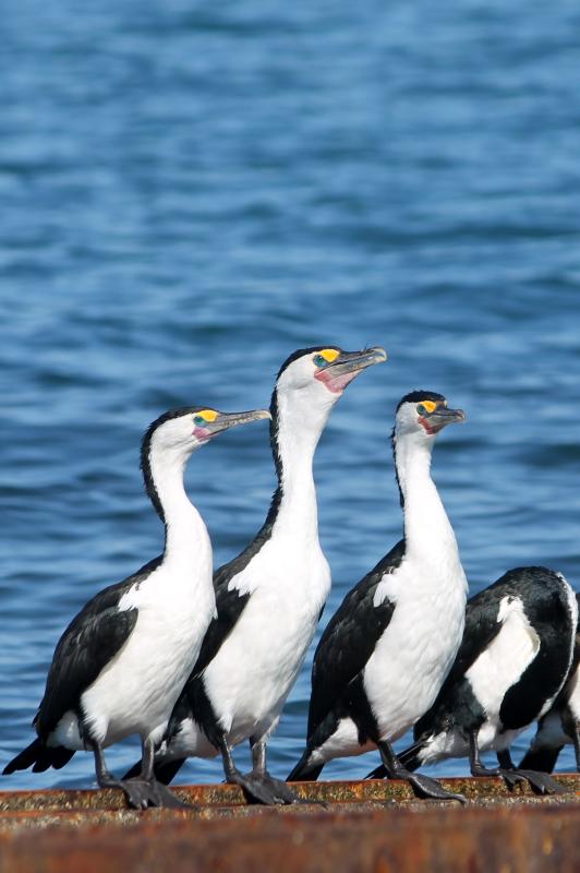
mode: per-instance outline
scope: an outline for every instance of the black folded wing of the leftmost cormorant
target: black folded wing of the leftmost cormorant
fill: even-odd
[[[55,649],[45,696],[34,723],[40,739],[57,727],[68,710],[78,709],[80,697],[129,638],[137,610],[119,611],[119,601],[161,562],[149,561],[137,573],[93,597],[69,624]]]

